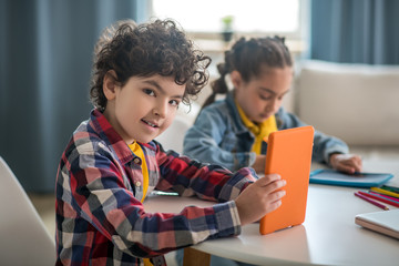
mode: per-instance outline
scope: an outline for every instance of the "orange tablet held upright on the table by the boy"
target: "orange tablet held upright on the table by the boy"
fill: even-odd
[[[282,130],[268,136],[265,174],[277,173],[287,181],[282,206],[260,219],[265,235],[305,221],[309,186],[314,127],[310,125]]]

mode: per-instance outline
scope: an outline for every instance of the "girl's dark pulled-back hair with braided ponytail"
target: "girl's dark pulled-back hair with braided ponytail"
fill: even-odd
[[[293,66],[293,59],[285,39],[280,37],[241,38],[233,48],[225,52],[224,63],[217,65],[221,76],[212,82],[213,93],[206,99],[203,109],[215,101],[216,94],[225,94],[228,91],[226,74],[236,70],[243,80],[248,82],[253,76],[260,74],[262,68]]]

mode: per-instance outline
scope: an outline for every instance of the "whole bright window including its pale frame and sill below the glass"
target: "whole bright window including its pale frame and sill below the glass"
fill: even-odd
[[[239,37],[286,38],[295,58],[306,57],[308,0],[152,0],[154,18],[171,18],[212,58],[211,76],[232,42],[223,42],[222,19],[233,17],[233,41]]]

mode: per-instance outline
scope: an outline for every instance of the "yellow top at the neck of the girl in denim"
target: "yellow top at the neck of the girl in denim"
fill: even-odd
[[[241,119],[243,120],[243,123],[245,126],[255,135],[255,142],[252,147],[252,152],[255,152],[256,154],[260,154],[262,152],[262,142],[265,137],[267,137],[272,132],[277,131],[277,123],[276,123],[276,116],[272,115],[267,120],[265,120],[260,124],[255,124],[252,122],[246,114],[244,113],[243,109],[239,106],[239,104],[236,101],[236,106],[239,113]]]

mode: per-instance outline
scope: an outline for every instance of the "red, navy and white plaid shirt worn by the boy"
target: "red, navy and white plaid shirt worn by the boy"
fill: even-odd
[[[235,174],[201,164],[152,141],[141,144],[149,168],[147,193],[175,191],[181,196],[219,202],[187,206],[180,214],[146,213],[141,158],[93,110],[68,144],[57,175],[57,265],[166,265],[163,254],[205,239],[241,233],[232,201],[255,173]]]

